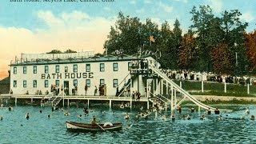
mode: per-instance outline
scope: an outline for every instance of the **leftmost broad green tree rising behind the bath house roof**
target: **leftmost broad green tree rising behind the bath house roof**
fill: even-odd
[[[120,12],[115,26],[110,28],[109,40],[104,44],[107,54],[136,54],[142,43],[141,29],[142,23],[137,17],[125,17]]]

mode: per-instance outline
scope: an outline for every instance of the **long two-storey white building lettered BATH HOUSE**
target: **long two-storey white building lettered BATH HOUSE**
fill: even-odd
[[[10,62],[10,90],[13,94],[58,94],[118,96],[122,89],[146,95],[147,79],[139,73],[151,57],[95,57],[93,51],[70,54],[21,54]],[[142,66],[141,66],[142,64]],[[124,90],[124,91],[126,91]]]

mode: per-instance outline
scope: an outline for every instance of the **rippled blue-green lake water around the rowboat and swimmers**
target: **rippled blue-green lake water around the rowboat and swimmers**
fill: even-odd
[[[218,106],[221,108],[221,106]],[[222,106],[234,110],[222,113],[223,120],[217,115],[206,116],[199,120],[198,112],[192,114],[192,119],[181,120],[176,114],[175,121],[162,120],[161,114],[155,119],[138,119],[138,111],[130,109],[109,109],[93,107],[88,116],[83,114],[83,108],[70,107],[70,115],[65,116],[62,110],[51,111],[50,106],[14,106],[13,111],[0,109],[3,120],[0,121],[0,143],[254,143],[256,142],[256,121],[240,119],[246,106]],[[250,114],[256,114],[256,107],[250,105]],[[42,114],[39,113],[42,110]],[[103,111],[103,112],[102,112]],[[30,118],[25,118],[26,112]],[[128,112],[130,120],[124,116]],[[47,115],[50,114],[50,118]],[[82,119],[78,118],[82,114]],[[168,112],[170,114],[170,112]],[[182,110],[182,114],[190,114]],[[202,113],[201,113],[202,114]],[[74,133],[66,130],[65,121],[90,122],[95,115],[97,121],[122,122],[123,128],[114,132]],[[132,125],[131,125],[132,124]],[[131,125],[128,129],[127,125]]]

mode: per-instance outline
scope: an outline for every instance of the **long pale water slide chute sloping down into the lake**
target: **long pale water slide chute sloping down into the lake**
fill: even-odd
[[[162,73],[162,71],[158,70],[154,66],[149,66],[151,70],[154,71],[154,73],[158,74],[161,78],[165,79],[167,82],[169,82],[171,85],[174,86],[176,90],[178,90],[180,93],[186,96],[186,98],[189,98],[190,101],[194,102],[197,106],[202,107],[203,109],[210,109],[210,110],[216,110],[216,108],[207,106],[206,104],[199,102],[196,98],[194,98],[192,95],[190,95],[186,90],[182,89],[182,87],[178,86],[175,82],[173,82],[170,78],[167,77],[166,74]]]

